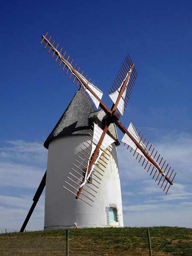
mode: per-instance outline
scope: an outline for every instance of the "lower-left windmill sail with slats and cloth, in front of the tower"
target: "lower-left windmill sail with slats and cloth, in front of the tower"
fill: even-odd
[[[103,173],[105,172],[111,154],[111,144],[114,142],[108,134],[105,134],[99,151],[97,152],[96,160],[90,172],[88,172],[91,157],[99,143],[102,133],[103,130],[94,123],[93,134],[90,134],[82,143],[81,150],[77,154],[75,163],[73,163],[71,168],[72,172],[69,172],[67,176],[68,180],[65,181],[67,187],[63,186],[73,195],[77,195],[79,189],[82,189],[79,199],[90,206],[92,206],[94,202],[93,199],[95,198],[95,194],[93,193],[96,193],[97,189],[99,189]],[[76,175],[78,175],[78,177]]]

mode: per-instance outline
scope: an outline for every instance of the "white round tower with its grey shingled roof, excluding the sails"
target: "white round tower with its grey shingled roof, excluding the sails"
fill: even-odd
[[[115,125],[109,128],[114,143],[105,173],[98,168],[99,173],[93,173],[89,180],[88,186],[93,190],[87,187],[91,194],[99,187],[93,207],[76,200],[63,189],[67,176],[72,186],[76,186],[71,180],[76,182],[83,175],[80,168],[86,165],[86,159],[79,151],[86,148],[82,143],[89,136],[93,123],[101,126],[103,116],[105,113],[95,111],[83,91],[78,90],[44,143],[48,148],[44,229],[70,228],[74,223],[78,227],[123,226]]]

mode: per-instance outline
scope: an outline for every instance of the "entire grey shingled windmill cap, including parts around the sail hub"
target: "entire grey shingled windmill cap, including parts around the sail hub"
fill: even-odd
[[[96,111],[84,92],[79,89],[45,140],[44,147],[48,149],[49,143],[58,137],[88,135],[93,122],[96,122],[102,128],[104,116],[105,112],[102,110]],[[108,134],[114,140],[118,139],[114,124],[109,126]]]

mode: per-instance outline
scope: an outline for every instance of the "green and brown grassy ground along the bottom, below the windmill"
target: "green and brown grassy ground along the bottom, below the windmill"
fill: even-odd
[[[192,256],[192,229],[148,229],[153,256]],[[0,234],[0,256],[65,255],[65,235],[65,230]],[[73,256],[147,256],[147,228],[73,229],[69,230],[69,247]]]

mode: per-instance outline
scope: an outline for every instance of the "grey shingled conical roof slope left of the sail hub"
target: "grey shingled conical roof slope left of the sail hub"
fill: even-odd
[[[49,143],[58,137],[66,135],[87,135],[90,131],[88,123],[90,113],[95,112],[95,109],[89,102],[89,99],[84,95],[82,90],[78,90],[72,101],[64,111],[55,128],[47,137],[44,147],[48,148]]]

